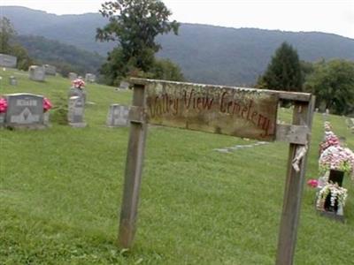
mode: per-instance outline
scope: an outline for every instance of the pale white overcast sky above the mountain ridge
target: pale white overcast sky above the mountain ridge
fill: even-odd
[[[354,39],[354,0],[163,0],[180,22],[320,31]],[[104,0],[0,0],[58,15],[97,12]],[[0,11],[1,12],[1,11]]]

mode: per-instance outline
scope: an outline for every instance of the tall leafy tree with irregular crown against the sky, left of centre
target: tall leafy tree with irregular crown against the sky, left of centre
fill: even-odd
[[[172,13],[159,0],[109,1],[102,4],[100,12],[109,23],[97,28],[96,39],[119,42],[101,69],[112,83],[133,69],[150,72],[155,63],[154,54],[161,49],[156,36],[171,31],[177,34],[180,26],[175,20],[168,20]]]

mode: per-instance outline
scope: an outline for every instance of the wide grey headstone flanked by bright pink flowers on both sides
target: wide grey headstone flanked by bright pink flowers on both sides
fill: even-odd
[[[6,127],[41,129],[45,122],[42,95],[5,95],[7,111],[4,118]],[[48,115],[48,114],[47,114]]]

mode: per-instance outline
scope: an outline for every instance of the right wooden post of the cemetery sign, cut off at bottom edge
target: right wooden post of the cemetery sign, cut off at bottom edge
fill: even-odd
[[[310,102],[296,102],[293,113],[293,125],[307,125],[311,130],[313,106],[313,96]],[[310,135],[308,136],[307,145],[310,147]],[[300,170],[296,172],[292,166],[292,162],[296,156],[296,149],[299,147],[301,147],[301,145],[294,143],[290,143],[289,146],[288,172],[281,214],[281,228],[276,259],[277,265],[291,265],[294,260],[297,224],[299,221],[304,186],[304,172],[308,154],[307,151],[299,164]]]

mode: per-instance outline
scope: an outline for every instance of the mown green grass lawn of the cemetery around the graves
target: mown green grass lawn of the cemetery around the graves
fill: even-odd
[[[0,95],[27,92],[56,104],[69,79],[3,72]],[[15,75],[19,85],[10,87]],[[41,131],[0,130],[1,264],[273,264],[289,145],[274,142],[231,153],[216,148],[253,140],[150,126],[135,246],[116,247],[128,128],[105,126],[111,103],[131,91],[87,85],[88,126]],[[55,106],[54,106],[55,107]],[[50,110],[53,111],[53,110]],[[290,120],[290,110],[281,110]],[[344,117],[330,116],[354,149]],[[318,178],[322,115],[313,120],[306,179]],[[346,223],[316,214],[315,191],[304,187],[295,264],[352,264],[354,185]]]

